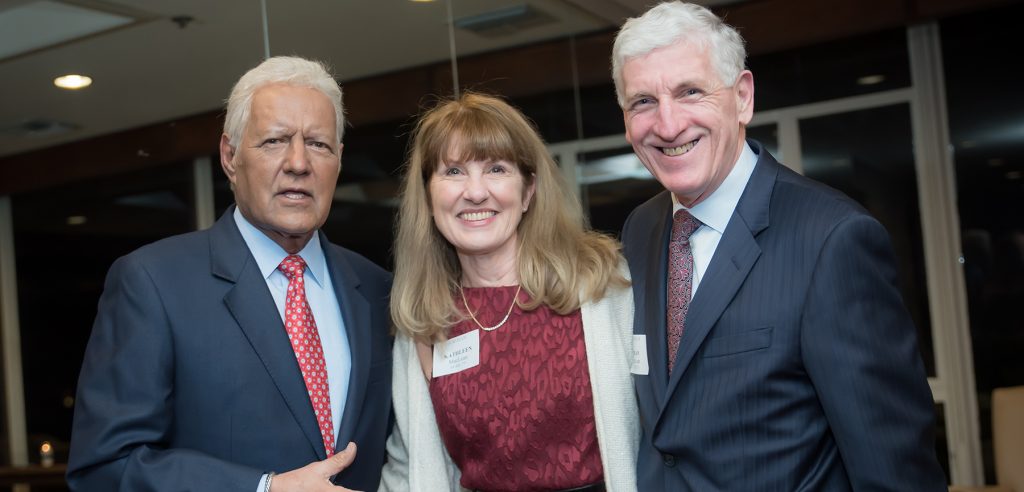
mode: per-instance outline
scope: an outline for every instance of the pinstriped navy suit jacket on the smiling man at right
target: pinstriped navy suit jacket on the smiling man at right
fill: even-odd
[[[934,404],[885,229],[756,141],[749,183],[705,273],[668,374],[672,199],[626,221],[640,490],[945,490]]]

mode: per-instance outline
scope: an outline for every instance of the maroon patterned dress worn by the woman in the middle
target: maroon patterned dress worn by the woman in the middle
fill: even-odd
[[[515,291],[465,289],[476,319],[488,327],[505,317]],[[476,329],[469,319],[449,336]],[[546,306],[516,306],[500,328],[480,330],[480,365],[432,378],[430,398],[463,487],[559,490],[603,480],[579,310],[559,316]]]

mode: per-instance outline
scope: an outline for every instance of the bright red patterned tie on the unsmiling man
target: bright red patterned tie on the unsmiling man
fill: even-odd
[[[327,383],[327,365],[324,363],[324,347],[321,346],[319,332],[313,312],[306,301],[306,286],[303,272],[306,262],[297,254],[289,255],[278,265],[278,270],[288,277],[288,297],[285,299],[285,330],[295,351],[295,359],[302,370],[306,382],[309,402],[316,413],[316,422],[324,437],[324,448],[328,457],[334,454],[334,423],[331,420],[331,394]]]

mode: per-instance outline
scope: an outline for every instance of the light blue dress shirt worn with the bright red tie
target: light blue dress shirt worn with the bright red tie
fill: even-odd
[[[273,302],[278,305],[281,319],[285,319],[285,299],[288,295],[288,277],[278,265],[288,256],[278,243],[273,242],[262,231],[256,229],[238,207],[234,208],[234,223],[242,233],[242,239],[252,252],[259,266],[260,274],[266,280]],[[327,268],[327,257],[319,242],[319,235],[313,234],[305,247],[299,251],[299,256],[306,262],[304,282],[306,301],[313,312],[316,330],[319,332],[321,345],[324,347],[324,362],[327,366],[328,387],[331,394],[331,421],[334,424],[335,438],[341,424],[341,416],[345,411],[348,398],[348,380],[352,372],[352,354],[345,332],[345,322],[341,317],[341,305],[335,295],[334,284]],[[282,321],[284,330],[284,321]],[[287,469],[275,471],[289,471]],[[266,476],[260,479],[257,491],[263,490]]]

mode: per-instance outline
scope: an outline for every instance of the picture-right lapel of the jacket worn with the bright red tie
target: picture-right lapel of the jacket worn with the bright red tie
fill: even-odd
[[[345,411],[341,416],[340,428],[335,440],[335,449],[344,449],[355,435],[355,424],[359,421],[360,404],[366,399],[367,383],[370,379],[370,302],[359,293],[359,279],[344,257],[327,241],[321,233],[321,244],[331,271],[331,282],[338,297],[341,316],[345,322],[345,333],[351,353],[352,369],[348,379],[348,396]]]

